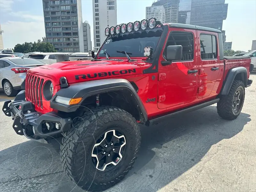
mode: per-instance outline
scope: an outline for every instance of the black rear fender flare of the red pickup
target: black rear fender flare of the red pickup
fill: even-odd
[[[229,69],[228,74],[226,76],[226,79],[223,83],[223,88],[221,91],[221,95],[227,95],[233,81],[235,80],[235,77],[237,74],[241,73],[242,81],[244,82],[244,87],[247,87],[247,69],[245,67],[236,67]]]

